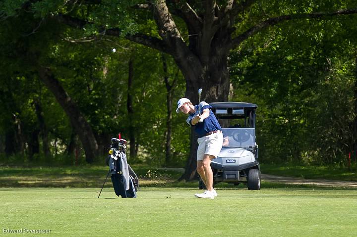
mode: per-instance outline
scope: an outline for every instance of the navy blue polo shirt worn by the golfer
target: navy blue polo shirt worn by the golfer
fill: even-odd
[[[198,114],[198,105],[195,105],[196,111],[194,113],[190,113],[186,122],[194,126],[195,132],[198,134],[198,136],[204,136],[205,134],[212,132],[212,131],[217,131],[217,130],[222,130],[221,125],[218,123],[218,120],[216,116],[213,114],[211,108],[212,106],[206,103],[205,101],[200,102],[201,106],[201,113],[204,109],[209,109],[210,115],[203,120],[202,123],[197,123],[195,125],[191,124],[191,120]]]

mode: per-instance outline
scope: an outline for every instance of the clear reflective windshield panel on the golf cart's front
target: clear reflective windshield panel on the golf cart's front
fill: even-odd
[[[223,148],[242,147],[252,148],[255,146],[254,128],[223,128]]]

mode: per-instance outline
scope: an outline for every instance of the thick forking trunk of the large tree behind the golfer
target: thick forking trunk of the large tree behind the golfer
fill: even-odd
[[[181,37],[165,0],[155,1],[154,19],[158,33],[165,47],[174,57],[176,64],[186,81],[185,96],[193,103],[198,103],[198,89],[202,88],[201,99],[206,102],[227,101],[229,95],[229,71],[227,59],[232,47],[233,30],[229,21],[222,18],[222,24],[215,20],[215,1],[205,1],[203,16],[199,16],[183,3],[180,13],[188,26],[189,46]],[[226,22],[227,24],[223,24]],[[191,180],[196,173],[197,136],[192,134],[190,156],[185,173],[180,179]]]

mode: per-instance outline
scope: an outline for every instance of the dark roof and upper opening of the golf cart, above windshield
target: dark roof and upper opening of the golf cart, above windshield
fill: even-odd
[[[255,109],[258,107],[256,104],[245,102],[214,102],[210,103],[210,105],[212,106],[212,112],[220,119],[254,116],[251,119],[255,120]]]

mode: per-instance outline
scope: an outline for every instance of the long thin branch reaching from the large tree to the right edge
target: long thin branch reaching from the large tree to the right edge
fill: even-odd
[[[286,20],[295,20],[295,19],[314,19],[314,18],[321,18],[326,16],[339,16],[339,15],[349,15],[349,14],[356,14],[357,9],[347,9],[347,10],[339,10],[336,12],[314,12],[314,13],[306,13],[306,14],[292,14],[292,15],[285,15],[285,16],[278,16],[269,18],[263,22],[256,24],[255,26],[251,27],[238,37],[232,40],[232,47],[236,48],[238,45],[248,39],[249,37],[255,35],[256,33],[260,32],[262,29],[276,25],[282,21]]]

